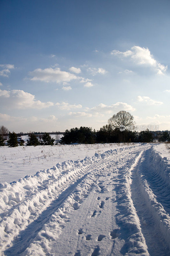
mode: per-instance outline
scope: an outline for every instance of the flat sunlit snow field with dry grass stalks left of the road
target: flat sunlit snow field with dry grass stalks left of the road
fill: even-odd
[[[26,136],[23,136],[27,140]],[[13,182],[25,175],[48,169],[68,159],[80,160],[95,153],[124,147],[123,144],[81,144],[54,146],[0,147],[0,182]]]

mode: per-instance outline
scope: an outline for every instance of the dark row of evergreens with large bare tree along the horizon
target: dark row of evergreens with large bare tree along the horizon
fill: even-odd
[[[108,124],[95,131],[90,127],[71,128],[63,133],[63,137],[60,140],[61,144],[93,144],[93,143],[120,143],[120,142],[152,142],[153,132],[146,131],[136,132],[133,131],[134,126],[133,116],[126,111],[119,111],[113,115]],[[55,132],[57,144],[59,141],[59,132]],[[7,135],[9,138],[7,140]],[[21,135],[20,135],[21,136]],[[4,141],[7,140],[9,147],[23,146],[24,140],[18,141],[18,134],[15,132],[9,132],[5,126],[0,127],[0,146],[4,146]],[[39,138],[38,138],[39,137]],[[159,141],[169,141],[170,135],[168,131],[164,131],[159,136]],[[49,132],[30,132],[27,146],[38,145],[54,145],[55,139],[50,136]]]

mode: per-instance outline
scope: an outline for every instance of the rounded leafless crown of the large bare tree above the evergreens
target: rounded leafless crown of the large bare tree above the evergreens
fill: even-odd
[[[128,128],[135,124],[133,121],[133,116],[124,110],[121,110],[117,114],[110,117],[108,123],[114,128],[120,127],[120,125]]]

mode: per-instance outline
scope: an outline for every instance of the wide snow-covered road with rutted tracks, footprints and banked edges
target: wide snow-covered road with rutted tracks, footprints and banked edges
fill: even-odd
[[[170,162],[150,144],[3,183],[1,255],[170,255],[169,189]]]

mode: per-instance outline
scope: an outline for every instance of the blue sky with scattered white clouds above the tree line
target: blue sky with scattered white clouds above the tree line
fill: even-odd
[[[0,124],[170,130],[169,1],[1,1]]]

